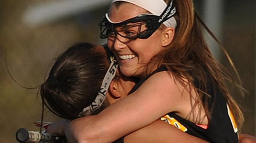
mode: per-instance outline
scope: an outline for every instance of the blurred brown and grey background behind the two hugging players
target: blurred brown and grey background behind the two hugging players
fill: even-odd
[[[99,22],[111,0],[1,0],[0,1],[0,142],[14,143],[19,128],[39,130],[42,105],[38,88],[53,60],[76,42],[102,44]],[[232,58],[245,97],[233,91],[242,106],[242,133],[255,135],[255,0],[194,0],[196,11]],[[205,33],[214,56],[231,69],[216,42]],[[10,77],[10,74],[16,82]],[[233,72],[231,72],[233,73]],[[19,85],[20,84],[20,85]],[[45,121],[57,120],[47,109]]]

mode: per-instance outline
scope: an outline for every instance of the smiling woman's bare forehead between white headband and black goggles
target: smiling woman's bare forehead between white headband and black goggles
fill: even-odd
[[[122,22],[145,13],[148,13],[145,9],[128,2],[123,2],[118,7],[112,4],[108,14],[111,21]]]

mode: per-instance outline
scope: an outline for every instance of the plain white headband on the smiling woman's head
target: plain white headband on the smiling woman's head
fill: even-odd
[[[165,8],[167,7],[167,4],[163,0],[113,0],[112,3],[117,1],[132,3],[157,16],[160,16],[165,10]],[[177,26],[177,23],[174,17],[171,17],[170,19],[165,21],[163,24],[165,24],[165,26],[167,27],[176,28]]]

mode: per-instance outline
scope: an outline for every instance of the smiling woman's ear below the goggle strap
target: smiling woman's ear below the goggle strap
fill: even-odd
[[[164,36],[163,36],[162,46],[166,47],[173,41],[175,29],[173,27],[165,27],[163,29],[163,34]]]

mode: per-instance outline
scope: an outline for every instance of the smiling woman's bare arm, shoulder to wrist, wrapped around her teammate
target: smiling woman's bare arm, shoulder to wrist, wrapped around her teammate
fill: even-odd
[[[156,73],[134,93],[100,114],[75,119],[66,124],[64,133],[68,141],[73,143],[113,142],[154,122],[162,115],[179,111],[183,98],[188,98],[181,96],[180,87],[168,72]]]

